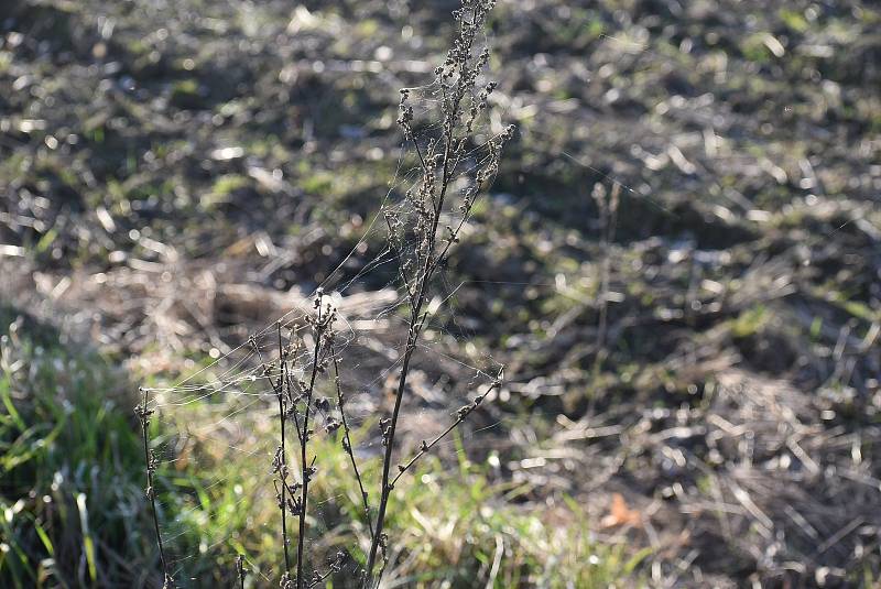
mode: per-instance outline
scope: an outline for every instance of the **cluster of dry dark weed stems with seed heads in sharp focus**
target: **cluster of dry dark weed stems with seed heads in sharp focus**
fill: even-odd
[[[309,504],[309,482],[318,469],[318,457],[309,449],[316,424],[322,424],[326,434],[335,434],[341,428],[341,444],[348,455],[352,473],[361,494],[361,508],[370,534],[367,564],[359,574],[358,582],[363,588],[379,585],[388,560],[390,538],[385,532],[389,501],[398,481],[442,439],[458,427],[487,397],[501,384],[501,371],[469,403],[463,405],[454,415],[449,426],[431,440],[423,440],[410,458],[398,460],[395,437],[404,416],[402,407],[407,395],[407,378],[413,367],[413,358],[418,348],[421,335],[428,321],[427,302],[435,295],[434,279],[444,266],[454,244],[467,223],[475,201],[494,177],[502,146],[513,135],[513,127],[497,134],[486,127],[489,97],[496,88],[493,81],[481,81],[490,52],[486,46],[478,47],[483,34],[487,18],[494,6],[492,0],[463,0],[461,7],[454,11],[456,36],[446,59],[435,72],[434,85],[439,101],[434,120],[416,121],[411,105],[415,89],[401,90],[400,117],[398,123],[404,138],[412,146],[418,171],[418,179],[406,192],[398,206],[381,211],[388,229],[388,251],[398,265],[400,286],[404,292],[407,309],[406,339],[403,343],[401,366],[394,392],[394,405],[390,415],[380,419],[381,438],[384,447],[382,476],[378,500],[371,505],[369,484],[362,473],[363,465],[352,448],[350,418],[346,415],[346,395],[342,390],[340,371],[344,358],[335,345],[334,324],[336,309],[318,288],[314,309],[303,325],[294,325],[290,334],[283,334],[281,324],[278,331],[278,359],[264,358],[255,339],[251,345],[262,366],[263,379],[270,383],[278,403],[279,445],[272,460],[275,497],[280,512],[280,536],[284,555],[283,570],[280,575],[283,589],[316,587],[331,574],[342,569],[348,555],[337,553],[324,571],[309,567],[307,547],[309,542],[307,511]],[[424,131],[423,131],[424,129]],[[333,368],[333,374],[329,369]],[[336,412],[331,401],[317,395],[319,380],[329,379],[336,395]],[[153,472],[155,458],[148,449],[146,423],[150,412],[146,396],[139,406],[139,416],[144,434],[144,457],[146,460],[148,497],[153,508],[156,539],[165,574],[166,587],[171,587],[167,564],[160,536],[155,510]],[[339,419],[335,415],[339,415]],[[293,428],[297,445],[298,472],[292,472],[289,462],[289,436]],[[297,480],[294,480],[296,478]],[[376,495],[374,495],[376,497]],[[291,554],[289,519],[296,520],[296,554]],[[381,559],[381,564],[379,560]],[[311,570],[309,570],[311,569]],[[237,560],[237,577],[243,586],[244,568],[241,558]]]

